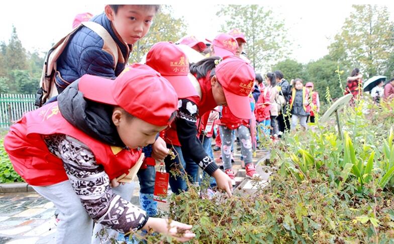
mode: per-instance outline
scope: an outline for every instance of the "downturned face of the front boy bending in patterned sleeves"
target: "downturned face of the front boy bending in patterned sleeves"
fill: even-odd
[[[166,128],[149,124],[137,117],[130,119],[121,108],[114,109],[112,120],[122,142],[131,149],[153,144],[157,133]]]

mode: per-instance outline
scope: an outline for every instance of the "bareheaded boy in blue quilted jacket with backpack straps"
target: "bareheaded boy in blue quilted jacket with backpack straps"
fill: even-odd
[[[117,63],[115,56],[109,52],[110,42],[89,28],[81,26],[70,38],[56,62],[55,83],[58,92],[60,93],[84,74],[116,78],[125,68],[133,45],[148,33],[159,7],[159,5],[106,5],[104,13],[89,20],[101,25],[108,32],[118,50]],[[75,21],[80,23],[86,21],[86,18],[88,13],[78,15]],[[144,153],[145,156],[152,155],[154,159],[163,160],[168,150],[164,141],[158,139],[153,146],[144,148]],[[154,185],[154,175],[151,176],[152,167],[141,168],[138,178],[143,178],[144,181],[140,181],[140,204],[150,216],[153,216],[156,214],[156,202],[151,196],[153,191],[146,191],[149,186]]]

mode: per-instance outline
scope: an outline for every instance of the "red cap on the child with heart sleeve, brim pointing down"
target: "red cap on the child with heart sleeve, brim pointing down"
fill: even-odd
[[[252,66],[239,57],[228,56],[216,66],[215,73],[230,111],[238,118],[250,119],[249,94],[256,77]]]

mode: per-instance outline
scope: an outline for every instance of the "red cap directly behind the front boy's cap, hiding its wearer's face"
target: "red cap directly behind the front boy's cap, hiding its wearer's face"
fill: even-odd
[[[146,64],[171,83],[178,98],[198,96],[188,78],[189,61],[177,45],[170,42],[156,43],[146,55]]]

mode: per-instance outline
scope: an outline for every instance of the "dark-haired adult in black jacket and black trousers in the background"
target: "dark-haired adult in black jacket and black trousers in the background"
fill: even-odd
[[[279,96],[283,96],[285,99],[285,103],[282,104],[280,111],[278,111],[277,121],[279,126],[279,131],[284,133],[285,131],[290,130],[290,121],[289,116],[286,116],[287,105],[290,101],[291,97],[291,87],[287,80],[283,78],[283,73],[280,70],[276,70],[276,87],[279,91]]]

